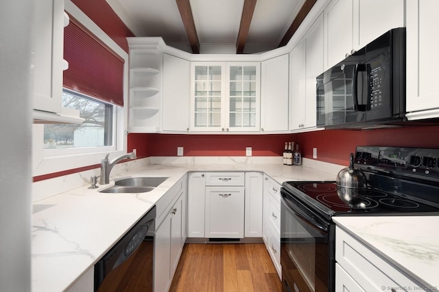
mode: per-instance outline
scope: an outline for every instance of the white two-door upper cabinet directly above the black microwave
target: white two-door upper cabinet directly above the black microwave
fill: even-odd
[[[404,0],[333,0],[324,10],[324,69],[404,26]]]

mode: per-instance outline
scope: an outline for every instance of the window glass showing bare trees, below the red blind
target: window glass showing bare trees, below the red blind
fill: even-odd
[[[82,124],[45,124],[44,148],[111,146],[113,105],[64,89],[62,106],[78,109]]]

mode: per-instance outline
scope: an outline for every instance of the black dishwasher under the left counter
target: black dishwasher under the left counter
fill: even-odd
[[[153,207],[95,264],[95,291],[152,292]]]

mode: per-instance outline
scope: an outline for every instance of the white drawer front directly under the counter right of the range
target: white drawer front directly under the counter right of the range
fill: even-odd
[[[377,287],[422,287],[338,226],[335,260],[365,291],[376,291]]]

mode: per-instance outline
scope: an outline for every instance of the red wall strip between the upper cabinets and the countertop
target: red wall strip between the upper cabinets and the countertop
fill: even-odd
[[[348,165],[349,153],[359,145],[439,148],[439,126],[282,135],[130,134],[128,151],[137,148],[138,157],[176,156],[182,146],[185,156],[245,156],[251,146],[253,156],[281,156],[285,142],[298,142],[303,157],[311,159],[317,147],[318,160]]]

